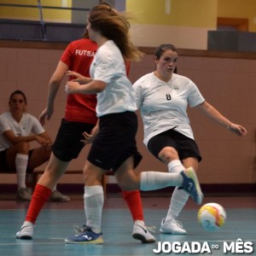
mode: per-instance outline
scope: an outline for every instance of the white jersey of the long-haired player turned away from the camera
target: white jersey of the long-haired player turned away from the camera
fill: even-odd
[[[134,89],[126,76],[124,58],[112,40],[97,49],[90,65],[90,77],[106,83],[106,89],[97,94],[97,117],[137,110]]]

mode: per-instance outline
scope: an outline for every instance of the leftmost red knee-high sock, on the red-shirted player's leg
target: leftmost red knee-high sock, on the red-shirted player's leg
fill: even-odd
[[[32,222],[35,224],[39,213],[41,212],[42,208],[46,201],[48,201],[49,196],[51,195],[51,189],[48,189],[40,184],[37,184],[32,195],[32,201],[28,207],[26,212],[26,221]]]

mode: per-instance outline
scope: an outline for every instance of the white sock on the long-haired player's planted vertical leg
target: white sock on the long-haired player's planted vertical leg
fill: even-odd
[[[104,193],[102,186],[84,187],[84,212],[86,225],[95,233],[101,232]]]

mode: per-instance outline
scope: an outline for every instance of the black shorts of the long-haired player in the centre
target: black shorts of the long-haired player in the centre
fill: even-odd
[[[142,155],[137,151],[136,134],[136,113],[110,113],[102,116],[100,131],[87,159],[95,166],[115,172],[132,155],[136,168],[142,160]]]

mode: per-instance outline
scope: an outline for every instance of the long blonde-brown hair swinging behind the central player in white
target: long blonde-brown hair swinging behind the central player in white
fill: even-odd
[[[141,60],[143,53],[131,43],[130,22],[125,13],[119,13],[106,4],[99,4],[90,9],[88,20],[92,30],[101,32],[103,37],[113,40],[126,60]]]

